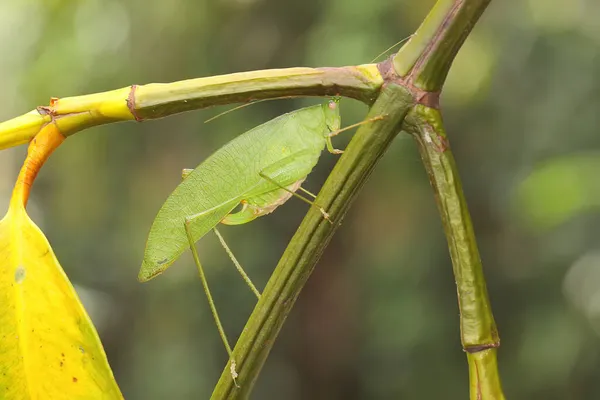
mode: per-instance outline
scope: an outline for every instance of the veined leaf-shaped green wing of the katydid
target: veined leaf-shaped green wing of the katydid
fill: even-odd
[[[321,105],[302,108],[265,122],[236,137],[187,175],[167,198],[156,216],[144,261],[138,275],[147,281],[165,271],[189,248],[184,228],[187,217],[198,216],[190,224],[194,241],[199,240],[229,214],[245,196],[277,189],[260,173],[291,155],[310,150],[310,169],[325,146],[328,132]],[[290,185],[306,176],[291,177]]]

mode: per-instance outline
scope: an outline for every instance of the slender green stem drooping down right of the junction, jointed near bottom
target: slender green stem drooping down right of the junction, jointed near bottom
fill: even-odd
[[[418,143],[448,240],[458,292],[461,342],[469,363],[471,399],[504,399],[496,363],[500,338],[441,114],[418,105],[407,116],[404,128]]]

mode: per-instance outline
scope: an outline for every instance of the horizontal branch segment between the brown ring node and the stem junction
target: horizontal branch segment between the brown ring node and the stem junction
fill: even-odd
[[[175,82],[168,87],[160,83],[139,86],[135,114],[139,119],[161,118],[219,104],[283,96],[342,95],[371,104],[382,84],[375,64],[240,72]]]

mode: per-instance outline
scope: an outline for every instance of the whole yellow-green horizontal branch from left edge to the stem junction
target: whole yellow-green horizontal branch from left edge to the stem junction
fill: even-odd
[[[290,96],[341,95],[372,104],[383,84],[376,64],[285,68],[153,83],[52,99],[49,106],[0,123],[0,150],[30,141],[54,121],[70,136],[91,126],[143,121],[215,105]]]

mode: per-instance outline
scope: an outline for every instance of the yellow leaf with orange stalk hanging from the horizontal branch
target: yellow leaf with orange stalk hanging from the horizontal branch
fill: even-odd
[[[54,123],[32,141],[0,221],[0,399],[121,399],[73,286],[25,205],[37,172],[64,140]]]

